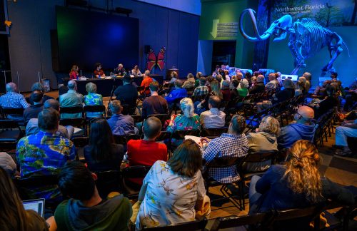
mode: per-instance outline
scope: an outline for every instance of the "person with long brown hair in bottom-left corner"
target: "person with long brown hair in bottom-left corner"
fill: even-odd
[[[49,230],[37,212],[25,210],[13,180],[0,168],[0,227],[1,230]]]

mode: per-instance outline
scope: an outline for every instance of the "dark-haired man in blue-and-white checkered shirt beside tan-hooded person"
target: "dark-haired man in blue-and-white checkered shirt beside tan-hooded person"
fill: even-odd
[[[201,138],[201,145],[208,142],[208,146],[203,150],[202,158],[208,165],[215,158],[236,158],[248,154],[248,140],[243,133],[246,128],[246,119],[243,116],[233,116],[229,124],[228,133],[223,133],[213,140]],[[239,180],[236,166],[226,168],[209,168],[208,175],[221,183],[233,183]]]

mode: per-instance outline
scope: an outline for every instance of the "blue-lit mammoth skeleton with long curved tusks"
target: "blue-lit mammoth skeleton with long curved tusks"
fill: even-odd
[[[246,13],[251,16],[255,37],[248,36],[243,30],[243,17]],[[249,41],[263,41],[273,35],[275,37],[273,41],[281,41],[286,39],[287,34],[289,34],[288,47],[295,58],[295,69],[291,74],[296,74],[300,68],[306,67],[305,59],[315,55],[324,46],[328,48],[330,61],[326,66],[323,66],[321,76],[325,75],[326,72],[335,71],[333,62],[343,51],[341,45],[346,46],[341,36],[321,26],[313,19],[301,19],[301,21],[298,20],[293,23],[293,19],[288,14],[274,21],[273,24],[260,35],[254,14],[255,11],[253,11],[253,9],[245,9],[242,12],[239,19],[239,29],[242,36]]]

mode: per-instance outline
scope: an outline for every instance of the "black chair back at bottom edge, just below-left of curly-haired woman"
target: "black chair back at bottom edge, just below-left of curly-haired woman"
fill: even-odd
[[[253,230],[263,230],[258,226],[263,225],[263,222],[269,220],[272,215],[271,213],[256,213],[254,215],[243,215],[243,216],[228,216],[228,217],[217,217],[211,226],[210,231],[218,231],[222,229],[228,229],[233,227],[239,227],[243,225],[255,225]]]

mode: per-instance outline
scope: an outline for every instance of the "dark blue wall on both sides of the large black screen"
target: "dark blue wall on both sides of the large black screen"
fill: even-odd
[[[13,23],[9,36],[11,71],[19,71],[21,91],[30,91],[31,84],[38,81],[38,71],[51,80],[52,88],[57,88],[51,64],[50,30],[56,29],[55,6],[63,4],[62,0],[8,3],[9,20]],[[91,0],[91,4],[106,9],[103,0]],[[196,72],[199,16],[132,0],[114,0],[115,7],[132,9],[131,17],[139,19],[141,70],[146,61],[144,46],[150,45],[155,52],[166,46],[166,67],[176,66],[180,76]],[[165,75],[166,69],[156,69],[155,73]],[[14,74],[13,79],[16,82]]]

